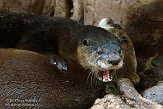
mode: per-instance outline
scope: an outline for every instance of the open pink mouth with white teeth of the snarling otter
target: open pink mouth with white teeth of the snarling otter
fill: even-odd
[[[112,81],[114,74],[115,74],[115,70],[101,69],[100,80],[102,80],[103,82]]]

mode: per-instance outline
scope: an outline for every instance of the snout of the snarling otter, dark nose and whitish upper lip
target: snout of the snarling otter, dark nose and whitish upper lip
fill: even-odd
[[[102,68],[110,68],[112,66],[119,66],[122,61],[120,55],[115,53],[101,54],[97,58],[97,64]]]

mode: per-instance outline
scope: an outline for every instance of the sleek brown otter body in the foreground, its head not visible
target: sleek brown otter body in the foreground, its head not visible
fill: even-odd
[[[0,107],[88,109],[104,94],[104,85],[90,86],[82,71],[68,75],[47,56],[26,50],[0,49]]]

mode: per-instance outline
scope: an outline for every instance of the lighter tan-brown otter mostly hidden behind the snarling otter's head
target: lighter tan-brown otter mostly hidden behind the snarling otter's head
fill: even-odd
[[[140,77],[137,74],[137,61],[135,50],[130,40],[128,34],[119,25],[115,24],[111,18],[103,18],[98,27],[104,28],[105,30],[111,32],[120,39],[123,39],[125,44],[122,44],[122,49],[124,53],[123,66],[118,70],[117,77],[127,77],[134,84],[138,85]]]

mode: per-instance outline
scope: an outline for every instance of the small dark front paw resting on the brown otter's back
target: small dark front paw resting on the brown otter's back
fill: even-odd
[[[51,58],[50,63],[61,71],[67,71],[67,63],[62,58]]]

